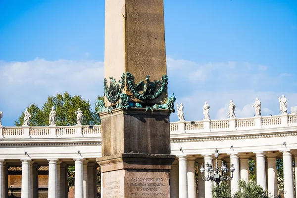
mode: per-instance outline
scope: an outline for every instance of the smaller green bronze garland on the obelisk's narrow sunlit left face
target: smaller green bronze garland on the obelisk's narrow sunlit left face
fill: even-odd
[[[125,73],[122,74],[121,80],[118,82],[112,77],[109,79],[109,88],[107,86],[107,79],[104,79],[104,95],[110,103],[115,104],[120,98],[120,93],[125,88]]]

